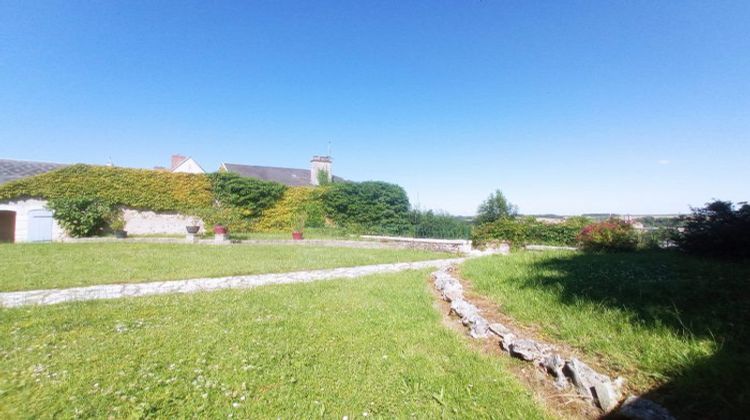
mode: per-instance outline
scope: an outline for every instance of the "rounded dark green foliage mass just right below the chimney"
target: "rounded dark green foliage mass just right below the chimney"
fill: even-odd
[[[326,214],[337,224],[369,233],[403,234],[410,229],[409,198],[385,182],[332,184],[323,194]]]

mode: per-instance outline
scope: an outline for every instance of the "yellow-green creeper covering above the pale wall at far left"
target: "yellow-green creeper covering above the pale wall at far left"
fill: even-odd
[[[0,186],[0,200],[18,197],[91,197],[153,211],[185,211],[213,203],[205,175],[90,165],[72,165]]]

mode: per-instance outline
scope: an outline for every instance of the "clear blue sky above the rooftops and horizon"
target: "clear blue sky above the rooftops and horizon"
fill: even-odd
[[[750,199],[749,1],[0,0],[0,157],[307,167],[472,214]]]

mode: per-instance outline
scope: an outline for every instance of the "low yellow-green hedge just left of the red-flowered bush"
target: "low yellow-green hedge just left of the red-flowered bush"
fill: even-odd
[[[490,241],[506,241],[512,246],[575,246],[576,237],[588,223],[585,217],[571,217],[563,223],[544,223],[533,217],[503,218],[475,227],[472,241],[478,246]]]

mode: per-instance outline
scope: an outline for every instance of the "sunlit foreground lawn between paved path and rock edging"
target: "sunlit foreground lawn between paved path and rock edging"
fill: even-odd
[[[544,418],[428,271],[0,310],[0,418]]]

